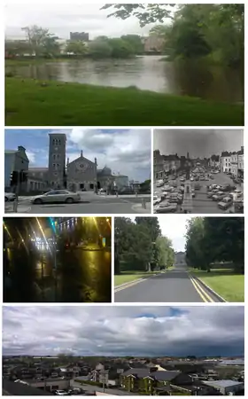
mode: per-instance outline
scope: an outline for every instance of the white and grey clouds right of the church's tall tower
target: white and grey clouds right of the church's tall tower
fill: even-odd
[[[144,180],[151,173],[150,129],[81,129],[67,132],[67,152],[70,161],[83,155],[89,160],[97,157],[98,168],[107,165],[112,172]],[[78,153],[75,151],[78,149]]]

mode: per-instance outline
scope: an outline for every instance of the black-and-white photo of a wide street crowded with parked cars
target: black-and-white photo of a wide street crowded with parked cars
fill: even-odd
[[[153,148],[154,213],[244,213],[242,129],[155,129]]]

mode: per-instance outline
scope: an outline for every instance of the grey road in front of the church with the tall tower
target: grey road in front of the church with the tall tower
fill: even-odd
[[[34,205],[31,197],[19,197],[19,212],[28,214],[139,214],[151,213],[151,195],[97,195],[93,192],[81,193],[81,202],[77,204]],[[143,201],[146,209],[143,209]],[[13,203],[5,202],[5,213],[13,212]]]

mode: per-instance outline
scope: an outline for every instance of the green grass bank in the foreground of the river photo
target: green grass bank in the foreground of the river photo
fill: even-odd
[[[244,106],[137,89],[6,77],[6,126],[243,126]]]

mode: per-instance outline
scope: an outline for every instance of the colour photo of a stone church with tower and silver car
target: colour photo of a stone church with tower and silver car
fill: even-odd
[[[151,213],[150,129],[5,129],[5,213]]]

